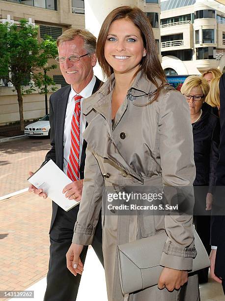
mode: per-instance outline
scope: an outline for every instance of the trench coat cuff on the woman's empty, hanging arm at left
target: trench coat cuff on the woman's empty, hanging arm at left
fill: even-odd
[[[89,245],[93,241],[95,226],[84,227],[77,222],[74,226],[74,235],[72,242],[77,244]]]

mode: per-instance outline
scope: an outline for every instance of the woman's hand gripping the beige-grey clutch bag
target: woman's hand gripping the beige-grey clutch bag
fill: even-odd
[[[169,292],[172,292],[174,289],[178,290],[187,281],[187,271],[164,268],[159,277],[158,288],[162,290],[166,287]]]

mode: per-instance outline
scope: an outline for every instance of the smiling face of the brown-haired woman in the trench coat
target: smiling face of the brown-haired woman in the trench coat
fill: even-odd
[[[113,21],[105,43],[104,54],[114,73],[134,75],[146,54],[141,31],[129,19]]]

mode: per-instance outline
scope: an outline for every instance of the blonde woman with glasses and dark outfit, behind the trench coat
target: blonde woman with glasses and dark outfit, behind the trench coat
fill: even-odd
[[[209,85],[204,78],[189,76],[184,81],[184,94],[190,109],[196,164],[194,223],[208,254],[210,254],[210,210],[213,201],[220,121],[212,107],[205,102]],[[200,186],[200,187],[199,187]],[[208,268],[199,271],[199,283],[208,281]]]

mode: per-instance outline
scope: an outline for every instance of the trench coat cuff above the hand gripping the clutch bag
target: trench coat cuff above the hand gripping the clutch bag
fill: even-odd
[[[191,271],[192,262],[193,258],[191,257],[180,257],[163,252],[160,265],[174,270]]]

